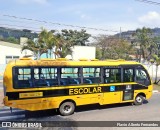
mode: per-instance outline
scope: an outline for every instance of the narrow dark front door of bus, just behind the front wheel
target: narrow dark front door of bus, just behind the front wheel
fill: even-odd
[[[122,90],[122,101],[130,101],[134,98],[134,67],[132,66],[126,66],[122,67],[122,81],[123,86],[121,88]]]

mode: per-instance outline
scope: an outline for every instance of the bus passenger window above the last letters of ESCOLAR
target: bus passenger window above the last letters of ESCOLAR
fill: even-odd
[[[97,67],[83,68],[83,83],[86,84],[100,83],[100,68]]]

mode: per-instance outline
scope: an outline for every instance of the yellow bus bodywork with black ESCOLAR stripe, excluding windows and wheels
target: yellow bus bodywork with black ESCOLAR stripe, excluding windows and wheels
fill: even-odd
[[[114,103],[123,103],[123,102],[133,102],[135,97],[143,93],[146,99],[149,99],[152,96],[153,86],[149,85],[146,88],[142,89],[133,89],[130,91],[130,94],[133,94],[130,99],[124,100],[124,94],[126,86],[137,85],[136,82],[121,82],[121,83],[97,83],[97,84],[79,84],[71,86],[50,86],[50,87],[33,87],[33,88],[14,88],[13,87],[13,68],[14,67],[39,67],[39,66],[63,66],[63,67],[118,67],[121,64],[125,65],[134,65],[141,66],[137,62],[127,62],[127,61],[32,61],[32,60],[18,60],[10,62],[4,73],[4,88],[5,88],[5,97],[4,104],[9,107],[20,108],[23,110],[46,110],[59,108],[60,104],[65,100],[70,100],[75,102],[76,106],[87,105],[87,104],[114,104]],[[33,72],[32,72],[33,73]],[[104,72],[102,73],[104,75]],[[103,75],[101,74],[101,79]],[[82,79],[81,79],[82,80]],[[139,86],[143,86],[140,85]],[[117,89],[118,88],[118,89]],[[143,89],[144,88],[144,89]],[[112,91],[112,89],[115,89]],[[117,90],[116,90],[117,89]],[[65,91],[63,92],[60,91]],[[52,91],[53,95],[47,95],[47,91]],[[61,95],[55,95],[54,91],[58,92]],[[129,93],[129,91],[128,91]],[[7,94],[9,94],[7,96]],[[46,96],[44,96],[46,94]],[[13,95],[16,95],[15,97]],[[14,99],[15,98],[15,99]]]

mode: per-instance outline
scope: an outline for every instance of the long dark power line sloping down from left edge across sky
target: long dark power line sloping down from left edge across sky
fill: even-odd
[[[6,15],[6,14],[4,14],[2,16],[11,17],[11,18],[14,18],[14,19],[40,22],[40,23],[45,23],[45,24],[54,24],[54,25],[58,25],[58,26],[74,27],[74,28],[81,28],[81,29],[91,29],[91,30],[105,31],[105,32],[119,32],[119,31],[115,31],[115,30],[107,30],[107,29],[100,29],[100,28],[92,28],[92,27],[85,27],[85,26],[62,24],[62,23],[56,23],[56,22],[48,22],[48,21],[45,21],[45,20],[37,20],[37,19],[31,19],[31,18],[17,17],[17,16],[13,16],[13,15]]]

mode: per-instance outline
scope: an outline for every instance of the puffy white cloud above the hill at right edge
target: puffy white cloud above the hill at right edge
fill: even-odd
[[[144,26],[160,26],[160,13],[152,11],[138,18],[138,22]]]

